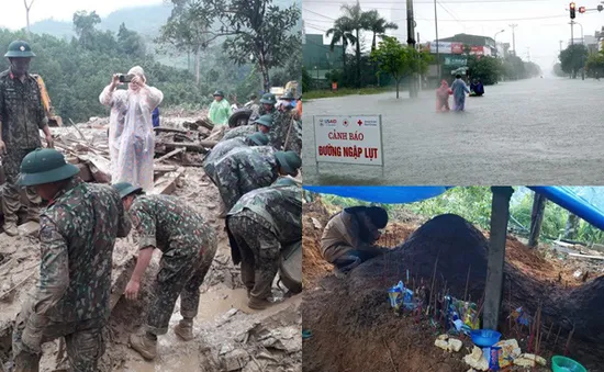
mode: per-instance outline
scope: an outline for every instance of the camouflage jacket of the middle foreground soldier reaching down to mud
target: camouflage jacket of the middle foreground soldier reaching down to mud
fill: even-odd
[[[130,208],[138,233],[138,248],[154,247],[164,255],[202,255],[216,236],[202,215],[172,195],[141,195]]]

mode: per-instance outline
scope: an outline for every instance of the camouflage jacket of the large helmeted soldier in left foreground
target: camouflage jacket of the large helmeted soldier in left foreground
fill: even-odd
[[[107,322],[113,246],[130,229],[113,188],[69,181],[40,217],[41,278],[27,326]]]

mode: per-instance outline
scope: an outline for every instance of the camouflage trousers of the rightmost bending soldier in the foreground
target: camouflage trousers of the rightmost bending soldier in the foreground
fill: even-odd
[[[242,280],[250,296],[265,300],[271,295],[272,281],[279,271],[281,244],[268,226],[249,217],[244,210],[230,216],[227,228],[242,257]]]

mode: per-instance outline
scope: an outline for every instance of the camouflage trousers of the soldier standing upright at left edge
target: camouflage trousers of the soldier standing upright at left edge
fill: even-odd
[[[4,214],[4,223],[16,224],[19,217],[18,213],[21,210],[21,192],[16,185],[19,181],[19,172],[21,168],[21,161],[25,155],[30,154],[34,149],[11,149],[7,155],[2,157],[2,168],[4,170],[4,177],[7,182],[2,187],[1,204],[2,213]],[[33,188],[25,188],[29,205],[27,216],[37,217],[38,205],[42,199],[35,193]]]

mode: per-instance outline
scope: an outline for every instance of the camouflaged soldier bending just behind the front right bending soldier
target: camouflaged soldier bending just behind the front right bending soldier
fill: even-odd
[[[251,190],[270,185],[279,174],[295,177],[302,160],[292,151],[266,151],[266,147],[243,147],[225,155],[215,165],[216,187],[225,210]],[[270,147],[269,147],[270,148]]]

